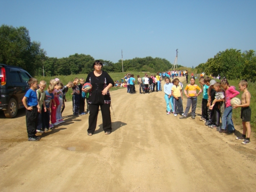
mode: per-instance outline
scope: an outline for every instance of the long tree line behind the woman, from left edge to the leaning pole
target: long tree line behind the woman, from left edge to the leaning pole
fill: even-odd
[[[94,60],[91,55],[77,53],[66,58],[47,57],[39,42],[31,42],[26,27],[0,27],[0,63],[22,67],[32,76],[86,74],[93,69]],[[103,70],[108,72],[155,72],[169,70],[172,67],[168,60],[152,57],[127,59],[123,61],[123,65],[122,60],[117,63],[100,60],[103,62]]]

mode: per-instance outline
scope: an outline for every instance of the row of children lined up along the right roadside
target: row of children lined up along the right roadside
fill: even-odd
[[[199,78],[199,84],[201,85],[202,88],[201,89],[198,85],[195,84],[195,78],[191,77],[190,84],[188,84],[184,89],[184,93],[188,98],[185,112],[183,112],[182,87],[181,85],[179,85],[179,79],[173,79],[172,83],[170,83],[169,77],[165,77],[164,80],[164,98],[166,101],[167,115],[173,113],[174,116],[176,117],[177,114],[180,114],[180,119],[187,118],[189,109],[192,106],[191,118],[195,119],[197,97],[199,94],[203,93],[202,117],[200,118],[200,120],[205,122],[206,126],[209,126],[212,129],[216,128],[217,131],[219,131],[220,133],[231,134],[235,132],[234,124],[231,118],[232,110],[234,108],[241,107],[243,135],[241,137],[237,137],[236,139],[244,140],[242,144],[250,143],[251,95],[247,90],[248,83],[245,80],[242,80],[238,84],[239,90],[243,92],[242,104],[231,106],[231,99],[235,98],[239,94],[239,92],[236,91],[234,86],[229,85],[226,78],[223,78],[220,82],[216,82],[213,79],[211,80],[210,77],[201,77]]]

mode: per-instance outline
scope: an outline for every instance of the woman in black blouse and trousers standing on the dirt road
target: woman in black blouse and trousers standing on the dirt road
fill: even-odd
[[[110,116],[111,98],[109,89],[114,86],[114,81],[106,71],[102,71],[102,66],[101,61],[95,61],[93,63],[94,71],[88,74],[85,81],[92,84],[92,91],[90,92],[90,97],[88,99],[90,106],[89,128],[87,130],[88,135],[92,135],[96,129],[99,106],[101,109],[103,130],[105,131],[105,134],[110,134],[112,131]]]

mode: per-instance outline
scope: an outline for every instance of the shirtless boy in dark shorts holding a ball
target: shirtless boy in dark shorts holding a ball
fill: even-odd
[[[243,92],[242,94],[242,101],[241,105],[234,105],[232,106],[233,109],[236,109],[237,107],[241,107],[241,118],[243,123],[243,135],[240,137],[237,137],[236,140],[244,140],[242,142],[243,145],[246,145],[250,143],[250,135],[251,135],[251,108],[250,108],[250,100],[251,100],[251,94],[247,90],[248,83],[245,80],[242,80],[238,84],[239,90]],[[246,138],[246,132],[247,132],[247,138]]]

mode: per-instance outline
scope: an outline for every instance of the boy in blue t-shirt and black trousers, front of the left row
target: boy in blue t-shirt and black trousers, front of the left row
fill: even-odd
[[[36,95],[37,89],[37,79],[30,78],[28,80],[28,84],[30,89],[27,91],[25,96],[22,99],[22,103],[26,110],[26,124],[27,124],[27,132],[28,132],[28,140],[29,141],[38,141],[40,137],[36,136],[36,127],[38,120],[38,100]]]

